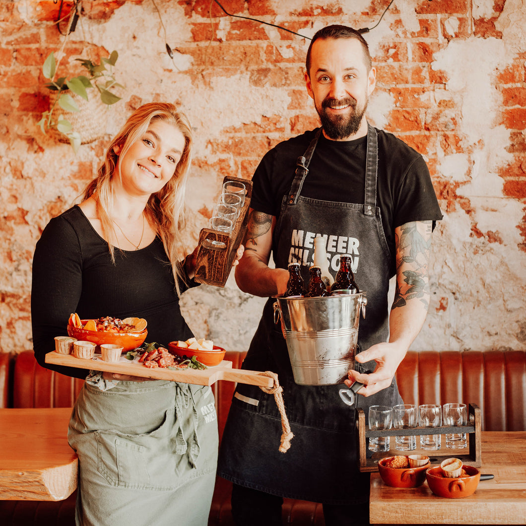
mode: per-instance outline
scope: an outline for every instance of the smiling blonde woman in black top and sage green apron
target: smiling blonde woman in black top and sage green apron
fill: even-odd
[[[192,336],[179,296],[195,257],[181,252],[192,147],[175,106],[138,108],[110,143],[82,202],[49,221],[33,261],[32,323],[38,362],[80,318],[135,316],[148,342]],[[238,259],[241,251],[238,254]],[[237,264],[237,260],[235,265]],[[68,439],[79,458],[76,523],[207,524],[217,462],[209,387],[90,371]]]

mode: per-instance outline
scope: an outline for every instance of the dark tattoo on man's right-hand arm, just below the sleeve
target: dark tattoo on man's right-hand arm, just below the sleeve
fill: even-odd
[[[404,265],[402,272],[404,283],[397,277],[395,301],[392,308],[403,307],[407,301],[419,298],[426,309],[429,307],[428,261],[431,248],[432,221],[419,221],[424,224],[422,234],[417,222],[410,222],[400,227],[396,235],[397,269]]]

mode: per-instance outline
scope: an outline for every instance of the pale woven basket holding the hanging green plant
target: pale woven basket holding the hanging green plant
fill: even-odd
[[[80,135],[80,144],[93,143],[94,140],[103,137],[108,124],[108,105],[100,100],[98,89],[90,88],[87,91],[89,100],[69,92],[69,95],[77,103],[80,109],[79,112],[66,112],[58,104],[53,109],[53,117],[55,119],[62,114],[65,119],[69,120],[72,125],[72,131],[76,131]],[[51,105],[55,102],[56,97],[57,95],[51,97]],[[69,143],[69,138],[66,135],[55,129],[50,129],[49,131],[61,143]]]

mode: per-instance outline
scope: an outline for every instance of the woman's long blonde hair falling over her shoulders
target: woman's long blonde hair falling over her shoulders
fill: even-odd
[[[155,120],[174,125],[185,138],[183,155],[177,163],[174,176],[163,188],[150,196],[145,209],[151,227],[163,240],[174,274],[177,294],[180,295],[178,278],[185,280],[185,273],[180,263],[181,258],[184,257],[181,231],[185,226],[186,181],[193,143],[190,123],[184,113],[179,112],[176,106],[169,103],[149,103],[137,108],[109,144],[97,177],[85,188],[82,201],[92,196],[95,198],[103,234],[106,239],[112,239],[112,236],[109,235],[110,232],[115,235],[111,219],[114,197],[112,185],[114,177],[120,178],[120,166],[117,170],[118,157],[125,155],[130,146],[143,136],[150,123]],[[115,153],[116,148],[119,156]],[[112,261],[115,262],[115,247],[110,241],[108,241],[108,247]]]

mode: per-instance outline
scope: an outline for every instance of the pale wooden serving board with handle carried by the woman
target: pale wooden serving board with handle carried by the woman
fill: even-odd
[[[223,360],[215,367],[207,369],[183,369],[173,370],[156,367],[149,369],[138,361],[130,361],[121,357],[118,362],[106,362],[95,355],[93,359],[85,360],[75,358],[73,355],[62,355],[58,352],[48,352],[46,363],[64,365],[67,367],[78,367],[80,369],[92,369],[94,371],[117,372],[122,375],[143,376],[155,380],[172,380],[174,382],[194,383],[199,386],[211,386],[217,380],[230,382],[248,383],[252,386],[272,387],[274,379],[262,376],[261,371],[248,371],[245,369],[232,369],[232,362]]]

